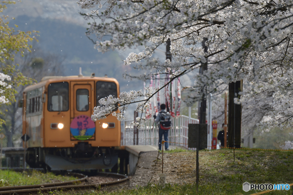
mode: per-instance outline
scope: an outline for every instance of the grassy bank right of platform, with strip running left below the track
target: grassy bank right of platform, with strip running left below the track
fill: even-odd
[[[167,180],[177,178],[180,184],[168,183],[165,189],[157,185],[156,179],[145,187],[137,189],[113,187],[108,189],[89,189],[86,192],[68,191],[52,192],[54,195],[248,195],[260,190],[243,191],[244,182],[251,184],[291,184],[293,183],[293,152],[264,150],[200,150],[200,183],[197,191],[195,181],[196,152],[181,149],[164,152],[164,173]],[[161,157],[160,157],[161,158]],[[158,165],[161,165],[159,160]],[[157,165],[157,166],[158,166]],[[169,167],[169,169],[168,169]],[[170,168],[171,167],[171,168]],[[173,167],[173,168],[172,168]],[[178,171],[172,172],[178,167]],[[168,171],[169,170],[169,171]],[[170,172],[171,171],[171,172]],[[159,175],[161,167],[156,167],[154,177]],[[173,180],[175,181],[175,180]],[[292,194],[289,191],[277,190],[265,195]]]

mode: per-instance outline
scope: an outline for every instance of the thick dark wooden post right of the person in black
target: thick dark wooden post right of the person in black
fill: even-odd
[[[229,83],[228,106],[228,145],[240,148],[241,145],[241,112],[242,105],[234,104],[234,98],[240,98],[239,92],[243,89],[243,80]]]

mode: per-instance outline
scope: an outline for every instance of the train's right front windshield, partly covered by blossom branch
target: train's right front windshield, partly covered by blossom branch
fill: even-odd
[[[114,82],[105,82],[98,81],[96,84],[96,98],[97,106],[102,106],[99,103],[99,100],[105,97],[112,95],[114,98],[117,98],[117,85]],[[117,105],[116,105],[117,106]]]

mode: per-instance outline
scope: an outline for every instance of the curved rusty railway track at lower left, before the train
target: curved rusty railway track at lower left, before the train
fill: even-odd
[[[26,185],[26,186],[7,186],[7,187],[0,187],[0,194],[1,195],[8,195],[8,194],[38,194],[38,192],[48,192],[48,191],[67,191],[67,190],[85,190],[85,189],[99,189],[104,188],[106,186],[112,186],[116,184],[121,184],[127,181],[127,176],[117,173],[105,173],[100,172],[98,176],[105,176],[105,177],[112,177],[115,178],[115,181],[112,182],[103,182],[103,183],[96,183],[96,184],[86,184],[86,179],[88,176],[79,173],[69,173],[70,176],[78,177],[79,179],[66,181],[66,182],[56,182],[50,184],[38,184],[38,185]]]

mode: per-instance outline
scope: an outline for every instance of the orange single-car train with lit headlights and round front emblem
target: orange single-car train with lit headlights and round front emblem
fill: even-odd
[[[25,88],[23,135],[26,162],[49,170],[112,169],[117,165],[120,121],[110,115],[93,122],[91,114],[103,97],[119,94],[116,79],[44,77]],[[118,112],[118,111],[116,111]]]

